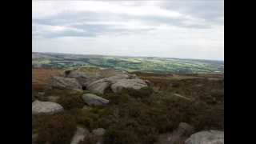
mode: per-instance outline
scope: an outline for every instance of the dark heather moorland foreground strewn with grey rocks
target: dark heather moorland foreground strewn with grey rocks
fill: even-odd
[[[224,143],[224,77],[34,69],[34,144]]]

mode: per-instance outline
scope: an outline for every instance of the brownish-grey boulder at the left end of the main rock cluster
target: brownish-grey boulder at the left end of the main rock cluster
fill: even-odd
[[[50,80],[50,88],[82,90],[82,86],[75,78],[54,76]]]

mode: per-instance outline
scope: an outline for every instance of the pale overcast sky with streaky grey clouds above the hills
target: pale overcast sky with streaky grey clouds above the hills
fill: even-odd
[[[33,52],[224,60],[224,0],[33,0]]]

